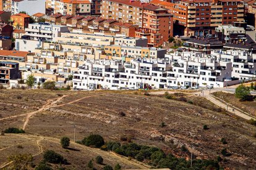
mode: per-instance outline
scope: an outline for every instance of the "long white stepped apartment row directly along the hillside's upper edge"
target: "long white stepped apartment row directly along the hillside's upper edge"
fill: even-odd
[[[135,89],[151,86],[157,89],[173,86],[224,87],[231,81],[231,62],[201,53],[183,52],[164,59],[87,60],[74,73],[74,89]]]

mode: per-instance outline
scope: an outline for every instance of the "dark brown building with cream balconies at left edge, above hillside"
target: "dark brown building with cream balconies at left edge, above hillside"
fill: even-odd
[[[19,63],[0,62],[0,84],[9,84],[10,79],[19,79]]]

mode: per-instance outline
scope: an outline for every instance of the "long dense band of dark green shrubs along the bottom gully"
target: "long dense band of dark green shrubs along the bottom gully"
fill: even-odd
[[[163,150],[156,147],[138,145],[135,143],[123,144],[119,142],[106,142],[103,150],[110,150],[119,155],[135,158],[138,161],[146,161],[156,168],[184,169],[190,168],[190,161],[184,158],[176,158],[175,156],[166,155]],[[213,160],[193,160],[194,169],[219,169],[218,161]]]

